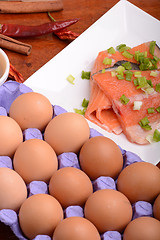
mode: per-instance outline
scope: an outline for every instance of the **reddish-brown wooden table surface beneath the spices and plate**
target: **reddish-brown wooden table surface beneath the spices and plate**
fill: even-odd
[[[53,12],[52,16],[56,20],[79,18],[79,22],[69,29],[81,34],[117,2],[118,0],[63,0],[64,9]],[[129,2],[160,20],[160,0],[130,0]],[[47,13],[0,14],[0,23],[39,25],[48,21],[50,19]],[[4,50],[11,64],[16,67],[25,80],[69,44],[68,41],[59,40],[53,34],[19,40],[32,45],[29,56]],[[15,240],[17,238],[7,227],[0,225],[0,239]]]

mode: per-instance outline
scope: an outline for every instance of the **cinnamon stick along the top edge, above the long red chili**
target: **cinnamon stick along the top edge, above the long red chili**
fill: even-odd
[[[0,1],[0,13],[52,12],[63,9],[62,0]]]

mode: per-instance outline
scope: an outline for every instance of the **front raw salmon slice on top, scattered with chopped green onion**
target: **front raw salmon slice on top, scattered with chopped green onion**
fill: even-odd
[[[134,73],[135,71],[132,70],[132,72]],[[153,89],[155,89],[156,84],[160,83],[160,70],[157,70],[158,74],[156,77],[150,76],[150,73],[151,71],[142,71],[141,76],[146,77],[147,80],[151,79]],[[146,136],[152,134],[155,129],[160,129],[160,113],[155,111],[153,114],[148,114],[147,109],[152,107],[156,109],[160,106],[160,93],[154,90],[151,94],[147,94],[142,89],[137,89],[133,83],[135,79],[134,74],[131,82],[118,80],[116,76],[112,77],[110,71],[103,74],[94,74],[92,79],[110,100],[128,140],[138,144],[148,144]],[[126,105],[120,101],[123,94],[129,99]],[[142,101],[142,107],[140,110],[133,110],[134,101],[137,100]],[[139,125],[139,122],[144,117],[147,117],[150,121],[152,130],[144,130]]]

